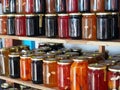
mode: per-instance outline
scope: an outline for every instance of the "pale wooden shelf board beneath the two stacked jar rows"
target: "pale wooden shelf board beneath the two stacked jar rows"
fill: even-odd
[[[69,44],[120,46],[120,40],[89,41],[89,40],[71,40],[71,39],[58,39],[58,38],[45,38],[45,37],[21,37],[21,36],[8,36],[8,35],[0,35],[0,38],[8,38],[8,39],[11,38],[16,40],[32,40],[39,42],[69,43]]]

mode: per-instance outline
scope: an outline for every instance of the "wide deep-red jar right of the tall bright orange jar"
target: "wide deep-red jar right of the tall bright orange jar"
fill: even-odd
[[[90,64],[88,66],[88,90],[108,90],[106,66],[102,64]]]

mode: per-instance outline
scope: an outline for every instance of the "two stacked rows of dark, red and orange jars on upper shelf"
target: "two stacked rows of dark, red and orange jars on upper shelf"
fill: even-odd
[[[4,15],[0,15],[0,34],[85,40],[118,39],[119,2],[2,0]]]

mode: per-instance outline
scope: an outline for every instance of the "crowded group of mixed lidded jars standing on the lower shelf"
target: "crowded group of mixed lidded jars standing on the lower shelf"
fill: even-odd
[[[60,90],[119,90],[120,55],[82,52],[62,44],[40,43],[0,50],[1,75],[58,87]],[[9,67],[8,67],[9,66]]]

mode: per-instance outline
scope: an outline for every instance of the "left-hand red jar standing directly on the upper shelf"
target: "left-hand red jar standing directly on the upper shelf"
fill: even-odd
[[[24,15],[16,15],[15,16],[15,35],[26,36],[25,16]]]

